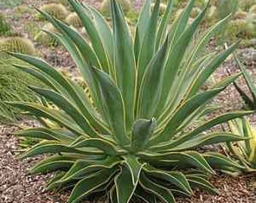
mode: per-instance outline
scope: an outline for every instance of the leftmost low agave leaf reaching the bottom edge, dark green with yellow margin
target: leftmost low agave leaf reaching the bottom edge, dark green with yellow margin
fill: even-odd
[[[111,170],[99,171],[93,176],[85,177],[80,180],[72,190],[69,196],[68,203],[76,203],[85,198],[91,191],[102,186],[111,179],[111,177],[116,173],[116,169],[111,168]]]

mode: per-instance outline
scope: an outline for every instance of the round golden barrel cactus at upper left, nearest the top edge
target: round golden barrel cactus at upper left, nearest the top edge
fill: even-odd
[[[63,6],[62,4],[43,5],[40,10],[46,12],[47,14],[50,14],[53,17],[56,17],[59,20],[64,20],[69,14],[69,11],[67,11],[65,6]],[[41,15],[39,14],[39,18],[43,17],[41,17]]]

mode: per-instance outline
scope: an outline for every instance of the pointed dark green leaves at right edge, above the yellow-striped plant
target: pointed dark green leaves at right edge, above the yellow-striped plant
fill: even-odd
[[[242,75],[245,79],[245,82],[248,86],[248,89],[250,91],[250,95],[247,95],[244,90],[242,90],[237,83],[233,83],[236,87],[237,92],[242,97],[242,100],[245,102],[246,108],[250,110],[256,110],[256,86],[254,85],[253,79],[251,75],[246,71],[245,66],[242,64],[242,62],[239,61],[237,56],[235,55],[236,64],[240,71],[242,71]]]

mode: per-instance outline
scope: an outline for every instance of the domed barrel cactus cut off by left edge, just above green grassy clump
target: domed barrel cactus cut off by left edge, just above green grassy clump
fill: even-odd
[[[35,54],[35,47],[32,41],[22,37],[3,38],[0,43],[0,50],[26,53],[30,55]]]

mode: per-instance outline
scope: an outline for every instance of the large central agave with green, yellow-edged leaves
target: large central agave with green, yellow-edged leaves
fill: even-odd
[[[58,29],[58,33],[47,33],[69,51],[93,100],[90,102],[81,86],[47,62],[11,53],[32,65],[15,65],[17,68],[50,87],[30,88],[52,105],[11,102],[44,124],[51,122],[17,132],[41,139],[21,155],[23,158],[53,154],[30,170],[58,171],[48,189],[72,188],[68,201],[72,203],[101,191],[108,193],[111,202],[126,203],[133,198],[175,202],[174,195],[190,196],[194,187],[217,192],[206,180],[215,174],[214,168],[242,167],[219,153],[194,150],[205,144],[242,140],[229,132],[205,132],[251,113],[221,114],[191,129],[194,121],[209,112],[207,103],[239,77],[235,74],[206,92],[200,90],[237,44],[218,54],[203,51],[228,17],[192,44],[208,8],[189,25],[194,2],[188,3],[168,29],[172,2],[160,17],[160,1],[155,2],[153,11],[151,1],[145,1],[136,33],[131,35],[115,0],[111,0],[113,29],[94,8],[69,0],[90,42],[72,27],[39,11]]]

